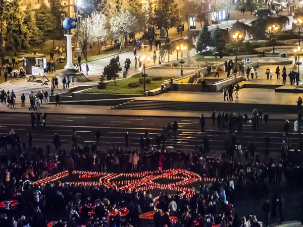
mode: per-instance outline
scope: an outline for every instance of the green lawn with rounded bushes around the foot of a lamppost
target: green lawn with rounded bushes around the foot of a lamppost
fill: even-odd
[[[139,81],[139,78],[141,77],[141,73],[135,74],[130,78],[124,79],[124,80],[116,80],[115,82],[112,80],[107,83],[106,89],[98,89],[97,87],[93,87],[91,89],[83,91],[84,93],[102,93],[102,94],[143,94],[143,84],[140,84],[139,87],[129,87],[129,83],[135,83]],[[146,77],[148,78],[148,77]],[[146,79],[145,78],[145,79]],[[159,88],[163,81],[166,78],[157,77],[157,80],[153,80],[153,77],[150,77],[150,83],[146,83],[145,90],[153,90],[156,88]]]

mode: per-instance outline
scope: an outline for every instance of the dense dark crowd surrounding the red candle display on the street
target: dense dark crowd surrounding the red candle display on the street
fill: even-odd
[[[262,110],[254,109],[252,118],[263,116]],[[125,133],[125,148],[113,146],[109,149],[100,147],[100,130],[95,133],[96,143],[81,147],[77,144],[76,131],[72,132],[72,148],[70,151],[60,149],[60,136],[55,134],[54,146],[47,144],[46,148],[32,144],[32,135],[18,135],[10,130],[8,135],[0,139],[0,201],[9,199],[19,202],[17,210],[5,206],[0,211],[0,226],[46,226],[48,220],[60,220],[56,226],[138,226],[139,214],[156,209],[154,221],[156,227],[163,226],[260,226],[256,216],[239,216],[237,208],[232,204],[254,198],[261,203],[262,198],[269,198],[269,185],[285,182],[291,186],[302,186],[303,166],[289,163],[287,146],[281,158],[274,161],[266,156],[264,161],[256,145],[251,143],[248,152],[244,154],[246,163],[241,162],[241,150],[236,135],[232,132],[241,131],[243,117],[223,113],[223,119],[214,111],[213,124],[217,120],[218,127],[228,127],[230,133],[226,151],[222,154],[211,153],[207,136],[203,144],[196,145],[190,152],[165,150],[165,137],[177,137],[178,123],[168,124],[156,137],[157,147],[153,146],[149,130],[140,138],[136,149],[128,148],[128,133]],[[227,116],[227,117],[226,117]],[[46,120],[46,115],[39,113],[33,119]],[[228,121],[225,121],[225,120]],[[37,121],[39,124],[41,121]],[[261,120],[262,122],[262,120]],[[45,123],[45,121],[43,122]],[[43,125],[43,123],[41,125]],[[244,124],[245,124],[244,123]],[[200,118],[201,131],[204,130],[204,116]],[[286,139],[285,139],[286,140]],[[269,146],[270,138],[265,138],[265,148]],[[163,149],[161,150],[161,143]],[[28,143],[28,146],[27,146]],[[46,149],[46,150],[44,150]],[[158,196],[153,191],[117,191],[105,187],[75,186],[68,183],[47,183],[45,186],[32,186],[30,182],[52,176],[64,170],[73,173],[80,171],[100,172],[141,172],[173,168],[189,169],[200,176],[215,178],[215,181],[201,182],[191,197],[182,196],[179,192],[172,197],[161,192],[158,202],[153,198]],[[73,176],[71,176],[73,177]],[[28,180],[28,181],[27,181]],[[268,226],[271,216],[279,214],[280,222],[284,222],[284,198],[282,194],[273,194],[272,199],[261,206],[264,216],[259,216],[263,226]],[[95,206],[94,214],[89,207]],[[155,208],[154,208],[155,205]],[[127,207],[126,216],[110,216],[113,209]],[[303,208],[303,207],[301,207]],[[0,208],[1,209],[1,208]],[[163,214],[163,215],[162,215]],[[55,218],[54,218],[55,216]],[[178,221],[171,223],[170,216],[177,216]]]

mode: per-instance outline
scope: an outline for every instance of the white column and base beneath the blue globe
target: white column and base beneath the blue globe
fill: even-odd
[[[84,76],[84,73],[77,71],[73,65],[73,55],[72,55],[73,34],[65,34],[64,36],[66,36],[67,38],[66,66],[64,67],[65,70],[63,72],[56,74],[56,77],[58,77],[59,81],[61,81],[63,77],[69,77],[72,83],[88,81],[88,79]]]

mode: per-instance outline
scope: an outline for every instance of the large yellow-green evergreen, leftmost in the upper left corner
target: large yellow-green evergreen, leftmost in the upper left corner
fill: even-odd
[[[19,1],[8,3],[6,20],[6,49],[27,49],[29,47],[29,30],[23,23],[25,15],[20,11]]]

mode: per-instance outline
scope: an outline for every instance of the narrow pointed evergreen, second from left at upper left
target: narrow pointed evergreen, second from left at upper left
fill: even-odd
[[[31,11],[31,5],[29,4],[26,9],[27,11],[25,12],[23,23],[26,25],[28,30],[29,43],[31,45],[41,44],[41,36],[36,25],[36,19]]]

